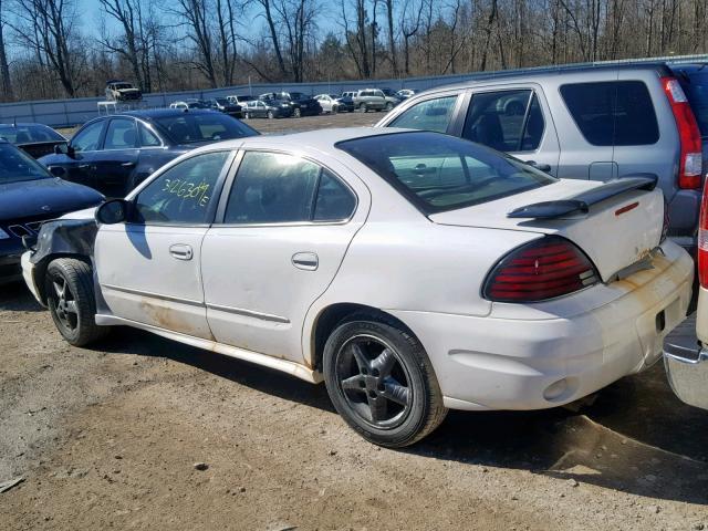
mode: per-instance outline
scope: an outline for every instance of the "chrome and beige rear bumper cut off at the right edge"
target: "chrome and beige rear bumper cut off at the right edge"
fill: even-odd
[[[708,291],[700,289],[699,301]],[[690,314],[664,341],[664,366],[671,389],[681,402],[708,409],[708,350],[697,336],[697,313]]]

